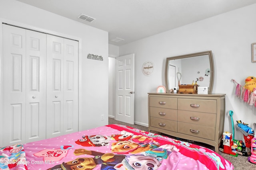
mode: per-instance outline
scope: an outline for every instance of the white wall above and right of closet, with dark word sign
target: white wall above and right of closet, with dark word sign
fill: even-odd
[[[0,20],[80,39],[79,130],[108,124],[108,32],[16,0],[0,1]],[[87,59],[89,53],[101,55],[103,61]]]

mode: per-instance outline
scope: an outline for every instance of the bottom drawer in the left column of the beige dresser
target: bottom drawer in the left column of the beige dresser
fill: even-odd
[[[150,117],[150,126],[177,132],[177,121]]]

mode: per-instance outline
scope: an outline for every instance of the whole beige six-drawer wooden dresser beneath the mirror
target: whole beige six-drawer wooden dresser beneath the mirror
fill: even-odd
[[[149,131],[212,145],[222,141],[225,94],[148,93]]]

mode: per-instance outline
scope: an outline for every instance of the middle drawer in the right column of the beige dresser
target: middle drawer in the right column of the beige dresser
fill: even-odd
[[[216,114],[178,110],[178,121],[203,126],[215,127]]]

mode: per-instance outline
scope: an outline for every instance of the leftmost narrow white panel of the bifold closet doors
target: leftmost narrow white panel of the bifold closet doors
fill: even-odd
[[[3,24],[2,145],[25,143],[26,30]]]

